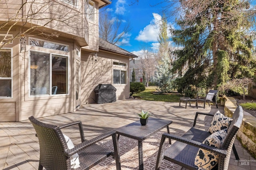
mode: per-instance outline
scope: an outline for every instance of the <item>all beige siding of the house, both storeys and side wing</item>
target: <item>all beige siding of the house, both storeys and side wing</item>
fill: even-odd
[[[44,1],[38,0],[36,2]],[[80,15],[83,13],[82,10],[84,10],[84,1],[79,0],[78,2],[78,8],[76,8],[74,6],[64,3],[61,0],[53,0],[48,2],[52,4],[52,6],[46,4],[46,6],[44,7],[44,9],[46,10],[46,14],[42,15],[41,13],[41,16],[34,16],[35,19],[38,19],[40,17],[47,18],[49,17],[51,10],[54,12],[60,12],[60,15],[64,15],[63,19],[66,19],[66,17],[70,17],[70,15],[78,14],[78,16],[72,18],[72,20],[66,21],[66,23],[68,25],[71,25],[71,27],[65,24],[61,24],[60,22],[52,21],[49,25],[45,25],[44,27],[40,28],[44,30],[45,33],[54,33],[56,31],[58,36],[47,38],[44,35],[37,35],[36,31],[34,31],[33,33],[35,33],[35,35],[24,34],[22,36],[22,39],[26,39],[26,45],[21,44],[22,39],[19,37],[20,30],[26,31],[26,29],[29,29],[29,26],[31,26],[30,23],[34,23],[35,25],[42,25],[45,21],[35,23],[35,20],[32,20],[30,21],[30,23],[28,23],[28,25],[26,25],[27,27],[21,27],[21,20],[19,20],[20,23],[12,25],[10,30],[8,29],[13,23],[7,25],[6,28],[0,29],[0,34],[6,35],[8,33],[9,36],[12,35],[13,37],[16,37],[16,35],[18,35],[18,38],[15,38],[12,43],[4,45],[4,48],[12,49],[12,97],[0,97],[0,121],[22,121],[28,119],[28,117],[32,115],[34,117],[45,117],[50,115],[68,113],[76,111],[76,109],[81,106],[85,106],[87,103],[95,103],[96,97],[94,93],[94,88],[98,84],[113,84],[112,74],[114,61],[127,64],[127,66],[122,68],[122,70],[127,71],[127,84],[114,84],[115,88],[117,89],[117,100],[129,98],[129,55],[124,55],[123,53],[110,53],[102,49],[100,49],[99,51],[98,2],[95,2],[95,22],[90,21],[89,23],[87,23],[84,15]],[[18,12],[22,1],[7,0],[5,3],[3,3],[2,1],[0,2],[0,23],[3,23],[9,18],[14,17]],[[35,4],[34,7],[37,8],[37,5],[38,4]],[[28,6],[28,4],[24,6],[24,14],[26,14],[26,12],[28,11]],[[5,7],[7,9],[7,12],[6,10],[2,10],[2,8]],[[70,15],[68,15],[69,13]],[[37,27],[36,29],[39,28]],[[46,46],[39,47],[40,45],[44,44],[41,44],[39,41],[36,41],[38,42],[38,46],[33,46],[29,44],[30,38],[37,39],[39,41],[48,41],[57,45],[65,45],[69,47],[69,50],[68,52],[66,52],[50,49],[49,47],[44,48]],[[87,40],[84,40],[86,38]],[[52,45],[51,43],[50,45]],[[22,47],[23,49],[21,50]],[[110,48],[110,50],[111,49],[112,48]],[[67,94],[60,93],[56,95],[45,94],[30,96],[30,92],[38,87],[46,87],[48,89],[51,88],[51,86],[56,86],[54,85],[55,83],[63,82],[64,85],[60,86],[63,86],[63,88],[65,88],[66,86],[65,78],[64,80],[62,79],[61,81],[63,82],[61,82],[57,75],[50,74],[50,77],[52,76],[54,77],[54,79],[46,78],[45,82],[41,79],[42,81],[38,81],[38,84],[34,84],[33,87],[30,87],[30,51],[51,53],[53,55],[62,55],[65,56],[64,58],[67,57]],[[94,58],[95,53],[98,54],[97,61],[95,61]],[[36,53],[33,54],[34,57],[37,55],[35,54]],[[43,75],[43,73],[47,73],[47,71],[42,70],[41,68],[45,67],[46,70],[48,70],[48,68],[51,68],[50,66],[46,66],[44,64],[36,65],[39,65],[41,67],[37,70],[36,74],[33,73],[34,71],[32,71],[31,75],[41,75],[41,71]],[[77,66],[80,67],[76,69]],[[40,74],[38,74],[38,72],[40,72]],[[52,80],[54,84],[50,84],[50,80]],[[44,84],[47,84],[48,86]],[[78,93],[76,93],[77,91]],[[62,92],[66,93],[66,91]],[[80,98],[80,101],[78,100],[79,98],[77,99],[77,96]]]

